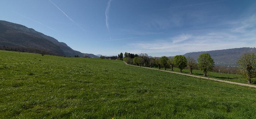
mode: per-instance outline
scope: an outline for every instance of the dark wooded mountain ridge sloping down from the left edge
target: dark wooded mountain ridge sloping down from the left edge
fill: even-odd
[[[73,57],[78,55],[83,57],[85,53],[73,50],[66,43],[59,42],[53,37],[47,36],[34,29],[23,25],[0,21],[0,50],[12,49],[13,51],[25,51],[30,53],[40,53]],[[99,58],[94,54],[87,54],[89,57]]]

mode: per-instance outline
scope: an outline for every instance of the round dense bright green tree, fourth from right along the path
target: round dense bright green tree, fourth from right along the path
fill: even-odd
[[[187,66],[187,59],[183,55],[176,55],[173,58],[173,64],[180,69],[180,72]]]

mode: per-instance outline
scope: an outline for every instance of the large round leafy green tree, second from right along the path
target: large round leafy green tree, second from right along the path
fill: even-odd
[[[204,77],[206,77],[207,72],[213,70],[214,61],[209,53],[203,53],[199,55],[197,65],[199,69],[203,71]]]

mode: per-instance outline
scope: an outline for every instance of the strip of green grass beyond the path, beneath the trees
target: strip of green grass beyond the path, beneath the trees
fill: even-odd
[[[158,68],[154,67],[154,69],[158,69]],[[164,70],[164,68],[161,68],[160,70]],[[166,70],[171,71],[171,69],[166,69]],[[173,68],[173,71],[180,72],[180,70],[176,67]],[[183,69],[181,73],[190,74],[188,69]],[[203,71],[201,71],[201,70],[193,70],[192,73],[193,73],[192,75],[203,77]],[[243,78],[242,75],[239,75],[239,74],[225,74],[225,73],[209,72],[209,76],[207,74],[207,77],[213,78],[213,79],[224,80],[224,81],[247,84],[247,79]],[[256,85],[255,78],[252,78],[251,81],[252,81],[252,83],[250,85]]]

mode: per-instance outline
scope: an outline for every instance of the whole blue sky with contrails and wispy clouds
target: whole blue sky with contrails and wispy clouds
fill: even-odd
[[[1,0],[0,20],[83,53],[174,56],[256,46],[255,0]]]

